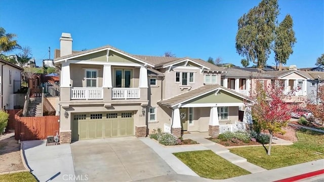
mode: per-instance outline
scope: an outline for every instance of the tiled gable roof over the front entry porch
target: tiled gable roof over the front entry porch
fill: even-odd
[[[174,105],[189,101],[191,99],[194,99],[196,97],[199,97],[201,95],[210,93],[210,92],[215,91],[215,90],[224,90],[224,91],[229,92],[229,93],[231,93],[233,95],[236,95],[238,97],[241,97],[243,99],[248,100],[247,96],[242,95],[242,94],[237,93],[237,92],[234,92],[234,91],[232,91],[232,90],[230,90],[230,89],[228,89],[226,87],[220,86],[218,84],[206,84],[204,86],[201,86],[201,87],[198,87],[196,89],[184,92],[182,94],[171,97],[169,99],[158,101],[157,103],[158,104],[163,104],[163,105],[166,105],[166,106],[174,106]]]

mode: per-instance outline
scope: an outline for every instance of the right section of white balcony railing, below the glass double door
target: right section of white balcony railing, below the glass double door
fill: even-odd
[[[112,99],[140,98],[139,88],[112,88]]]

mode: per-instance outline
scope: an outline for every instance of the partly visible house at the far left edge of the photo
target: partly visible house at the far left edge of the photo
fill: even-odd
[[[1,109],[13,109],[15,102],[13,94],[20,89],[22,67],[0,59],[0,103]]]

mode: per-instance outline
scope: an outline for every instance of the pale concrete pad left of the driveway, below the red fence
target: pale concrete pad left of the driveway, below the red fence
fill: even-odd
[[[26,164],[39,181],[74,181],[69,144],[46,146],[46,140],[30,140],[22,146]]]

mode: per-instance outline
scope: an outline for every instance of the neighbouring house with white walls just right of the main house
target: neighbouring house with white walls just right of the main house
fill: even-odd
[[[262,72],[246,71],[244,69],[228,68],[222,73],[221,85],[240,94],[249,96],[255,90],[257,80],[266,87],[271,84],[272,75]]]

